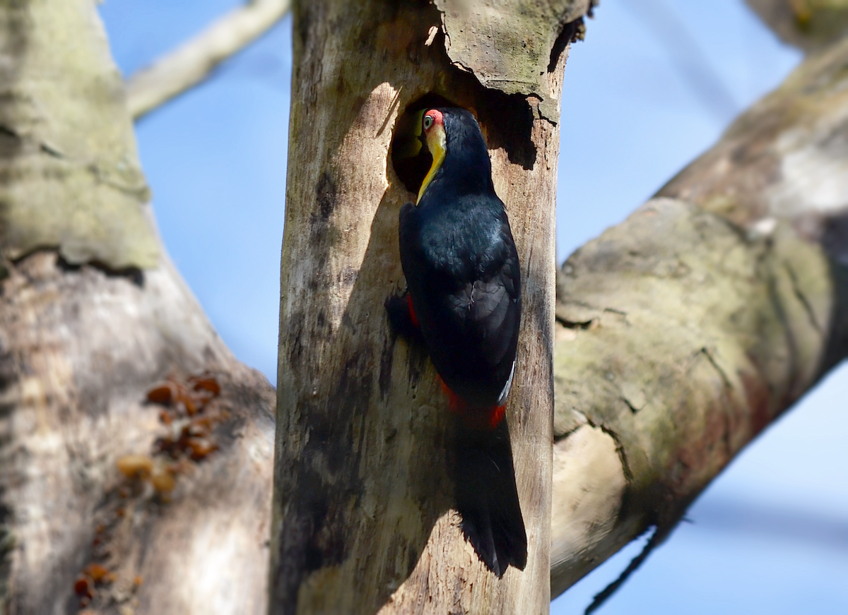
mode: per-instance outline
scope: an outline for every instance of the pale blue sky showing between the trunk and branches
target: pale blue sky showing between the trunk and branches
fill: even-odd
[[[126,75],[236,0],[107,0]],[[291,23],[137,126],[159,229],[227,344],[276,374]],[[617,224],[717,140],[800,60],[741,0],[604,0],[566,67],[557,252]],[[848,612],[848,369],[734,461],[600,609],[615,613]],[[554,601],[582,612],[633,544]]]

